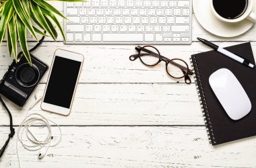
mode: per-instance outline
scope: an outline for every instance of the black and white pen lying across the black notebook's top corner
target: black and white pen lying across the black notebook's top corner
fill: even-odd
[[[233,54],[232,52],[229,52],[228,50],[225,50],[224,48],[221,48],[220,46],[217,46],[216,44],[213,44],[212,42],[209,42],[203,38],[197,38],[200,42],[203,44],[210,46],[214,50],[228,56],[229,58],[232,58],[233,60],[236,60],[237,62],[240,62],[243,65],[247,65],[248,67],[254,68],[255,65],[251,64],[250,60],[246,58],[242,58],[241,56],[238,56],[236,54]]]

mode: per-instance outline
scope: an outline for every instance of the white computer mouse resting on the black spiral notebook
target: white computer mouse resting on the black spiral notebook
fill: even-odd
[[[251,111],[251,101],[241,83],[228,69],[219,69],[209,78],[210,86],[232,120],[239,120]]]

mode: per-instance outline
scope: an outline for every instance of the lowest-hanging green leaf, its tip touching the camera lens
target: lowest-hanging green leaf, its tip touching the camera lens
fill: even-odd
[[[22,47],[23,54],[26,57],[26,59],[28,60],[28,63],[30,65],[32,65],[31,58],[30,58],[30,52],[28,51],[26,27],[25,27],[25,24],[20,19],[20,17],[17,17],[17,30],[18,30],[20,46]]]

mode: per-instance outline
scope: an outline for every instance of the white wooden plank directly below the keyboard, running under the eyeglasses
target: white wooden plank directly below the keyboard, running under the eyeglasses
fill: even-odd
[[[241,42],[216,42],[220,46],[232,46]],[[32,48],[35,43],[30,42]],[[256,53],[256,42],[252,42],[253,52]],[[7,54],[7,44],[3,43],[0,50],[0,77],[3,76],[11,59]],[[65,45],[63,42],[44,42],[33,52],[41,60],[51,65],[53,54],[57,48],[71,50],[84,54],[84,66],[79,79],[80,83],[176,83],[177,80],[169,77],[165,70],[165,63],[161,62],[156,67],[147,67],[139,59],[129,60],[131,54],[137,53],[135,45]],[[190,67],[191,54],[210,50],[200,42],[193,42],[189,46],[157,46],[161,54],[168,58],[183,58]],[[2,57],[4,56],[4,57]],[[217,62],[216,62],[217,63]],[[47,80],[46,73],[43,83]],[[193,77],[191,77],[193,79]],[[183,80],[179,82],[184,83]]]

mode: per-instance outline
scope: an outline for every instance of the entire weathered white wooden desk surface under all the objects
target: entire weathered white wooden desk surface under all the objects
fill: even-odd
[[[55,6],[62,9],[61,3]],[[191,54],[209,50],[197,42],[197,36],[220,46],[251,41],[256,55],[255,27],[243,36],[218,38],[203,30],[194,16],[191,45],[157,48],[163,55],[189,62]],[[30,47],[34,44],[29,43]],[[38,152],[26,151],[18,143],[22,167],[256,167],[255,137],[216,147],[209,144],[195,83],[177,83],[166,75],[163,63],[150,69],[139,60],[131,62],[134,47],[65,45],[61,38],[57,42],[46,39],[34,52],[38,58],[51,65],[55,50],[63,48],[84,54],[84,67],[70,116],[43,112],[40,103],[29,112],[60,124],[63,139],[42,160],[38,160]],[[12,61],[6,42],[0,53],[2,77]],[[47,77],[48,73],[36,91],[44,91]],[[34,97],[23,109],[7,101],[15,128],[32,101]],[[0,106],[1,146],[7,134],[9,118]],[[1,158],[0,167],[18,167],[16,138],[17,134]]]

